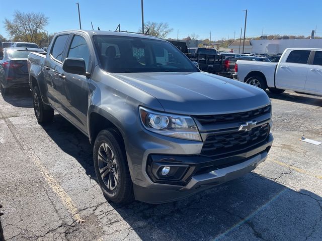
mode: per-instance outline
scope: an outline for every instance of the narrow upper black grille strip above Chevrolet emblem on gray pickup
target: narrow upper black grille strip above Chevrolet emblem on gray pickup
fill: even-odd
[[[254,117],[270,113],[271,105],[267,105],[265,107],[254,109],[245,112],[239,113],[230,113],[230,114],[215,114],[215,115],[198,115],[195,116],[197,121],[205,126],[205,125],[213,125],[218,123],[231,123],[231,122],[245,122]]]

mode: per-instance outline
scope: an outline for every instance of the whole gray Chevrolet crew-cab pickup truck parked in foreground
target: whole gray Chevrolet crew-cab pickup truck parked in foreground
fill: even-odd
[[[203,73],[162,39],[60,32],[28,69],[38,123],[55,110],[89,138],[113,202],[190,196],[251,172],[272,146],[262,89]]]

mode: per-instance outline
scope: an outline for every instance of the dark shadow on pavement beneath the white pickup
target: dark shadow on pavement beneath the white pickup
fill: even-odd
[[[272,99],[281,99],[290,102],[296,102],[300,104],[310,104],[314,106],[322,107],[322,96],[313,95],[313,94],[297,94],[295,92],[292,93],[281,93],[274,94],[269,91],[266,91],[267,95]]]

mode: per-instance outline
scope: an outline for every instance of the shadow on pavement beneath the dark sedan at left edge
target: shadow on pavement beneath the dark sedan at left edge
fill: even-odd
[[[29,88],[10,89],[4,100],[16,107],[32,108],[32,94]]]

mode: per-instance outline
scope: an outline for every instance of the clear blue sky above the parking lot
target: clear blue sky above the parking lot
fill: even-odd
[[[6,4],[2,4],[5,3]],[[82,29],[137,32],[141,26],[140,0],[0,0],[0,34],[9,37],[4,20],[12,19],[15,10],[42,13],[49,18],[48,33],[78,29],[77,5],[81,11]],[[198,39],[238,38],[247,17],[247,37],[270,34],[309,36],[316,28],[322,36],[321,0],[143,0],[144,21],[168,23],[179,39],[195,33]],[[316,8],[312,8],[315,6]]]

